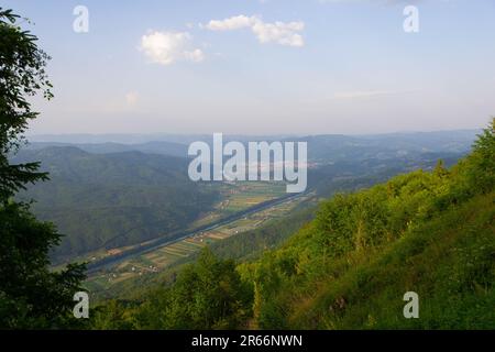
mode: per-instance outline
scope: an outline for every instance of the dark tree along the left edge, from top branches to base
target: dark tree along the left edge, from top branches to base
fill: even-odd
[[[45,72],[50,57],[19,20],[0,8],[0,328],[63,328],[72,323],[73,296],[85,267],[70,264],[51,272],[48,253],[61,234],[52,223],[36,220],[29,204],[13,198],[28,184],[48,178],[38,163],[11,165],[9,157],[38,116],[30,97],[52,98]]]

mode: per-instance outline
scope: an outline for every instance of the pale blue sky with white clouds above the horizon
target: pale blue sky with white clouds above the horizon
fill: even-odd
[[[30,134],[364,134],[477,129],[495,114],[493,0],[0,7],[52,56],[55,98],[33,100]]]

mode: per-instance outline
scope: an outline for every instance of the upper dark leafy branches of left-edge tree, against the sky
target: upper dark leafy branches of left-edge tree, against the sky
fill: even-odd
[[[45,74],[50,58],[36,45],[36,36],[16,26],[19,15],[0,8],[0,197],[6,199],[24,188],[26,183],[46,179],[36,173],[38,164],[10,165],[8,154],[15,152],[22,133],[37,112],[31,110],[29,97],[42,91],[52,97]]]

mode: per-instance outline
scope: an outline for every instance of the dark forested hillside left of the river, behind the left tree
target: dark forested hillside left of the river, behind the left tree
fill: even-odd
[[[40,218],[66,234],[56,258],[143,242],[189,226],[217,199],[187,176],[186,158],[123,152],[91,154],[73,146],[24,150],[15,163],[41,161],[50,180],[29,187]]]

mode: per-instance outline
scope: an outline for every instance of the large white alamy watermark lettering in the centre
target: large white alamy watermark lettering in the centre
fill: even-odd
[[[206,142],[189,145],[189,178],[199,180],[277,180],[287,183],[287,193],[306,190],[308,177],[306,142],[228,142],[215,133],[212,151]],[[226,160],[227,158],[227,160]]]

